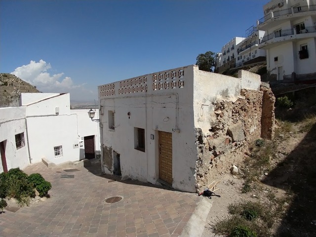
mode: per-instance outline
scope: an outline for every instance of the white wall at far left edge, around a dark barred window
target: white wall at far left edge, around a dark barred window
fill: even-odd
[[[15,135],[24,133],[24,146],[16,148]],[[4,141],[7,169],[25,168],[29,164],[25,107],[0,108],[0,142]],[[0,162],[0,172],[3,172]]]

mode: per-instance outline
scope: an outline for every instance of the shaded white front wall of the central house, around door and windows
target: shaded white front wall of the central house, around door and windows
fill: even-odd
[[[103,145],[120,154],[122,176],[156,183],[159,178],[158,131],[171,132],[172,187],[195,192],[194,168],[197,149],[193,119],[193,68],[194,66],[188,66],[135,78],[136,81],[146,78],[146,82],[140,84],[147,86],[147,91],[119,94],[118,89],[127,88],[128,91],[128,88],[133,87],[120,87],[120,83],[130,83],[131,79],[114,82],[114,89],[111,89],[112,84],[110,89],[105,87],[109,85],[98,87],[102,106],[100,118],[103,126]],[[182,71],[182,74],[179,74],[179,71]],[[172,76],[173,72],[175,78]],[[169,79],[165,79],[166,74]],[[154,81],[154,75],[162,75],[162,79]],[[184,83],[180,86],[183,88],[179,88],[177,84],[180,80]],[[172,81],[176,82],[176,88],[171,88],[169,82]],[[169,88],[165,82],[168,82]],[[155,86],[158,86],[157,90]],[[111,95],[105,96],[109,91]],[[114,92],[111,91],[115,91],[115,95],[112,95]],[[115,111],[115,130],[109,128],[108,111]],[[134,149],[134,127],[145,129],[145,152]],[[154,140],[151,135],[154,135]],[[104,171],[111,172],[106,166]]]

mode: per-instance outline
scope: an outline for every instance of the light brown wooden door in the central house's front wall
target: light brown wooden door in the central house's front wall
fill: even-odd
[[[159,131],[159,179],[172,184],[172,133]]]

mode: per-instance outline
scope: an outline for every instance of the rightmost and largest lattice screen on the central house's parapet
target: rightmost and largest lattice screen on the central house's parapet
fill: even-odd
[[[179,78],[184,78],[183,69],[153,74],[153,90],[183,88],[184,80]]]

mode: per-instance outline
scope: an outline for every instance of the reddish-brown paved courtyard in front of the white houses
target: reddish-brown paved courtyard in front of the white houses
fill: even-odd
[[[196,208],[197,195],[100,174],[100,164],[71,172],[29,165],[52,184],[50,198],[0,214],[1,237],[176,237]],[[62,178],[74,175],[74,178]],[[121,196],[116,203],[104,199]]]

